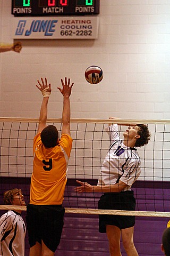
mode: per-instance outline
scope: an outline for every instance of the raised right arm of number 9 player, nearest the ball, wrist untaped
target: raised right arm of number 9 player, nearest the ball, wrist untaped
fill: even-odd
[[[63,94],[62,134],[65,133],[70,135],[70,95],[74,83],[70,85],[70,78],[67,81],[66,77],[65,83],[63,82],[63,79],[61,79],[61,83],[63,88],[57,88]]]

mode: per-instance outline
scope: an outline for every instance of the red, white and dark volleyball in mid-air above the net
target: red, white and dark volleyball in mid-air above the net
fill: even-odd
[[[98,84],[103,79],[103,70],[98,66],[90,66],[85,71],[85,78],[90,84]]]

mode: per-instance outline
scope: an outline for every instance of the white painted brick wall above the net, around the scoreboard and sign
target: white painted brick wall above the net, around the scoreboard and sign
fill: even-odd
[[[0,42],[12,43],[11,0],[0,0]],[[38,117],[41,76],[52,83],[48,117],[61,117],[56,90],[75,82],[72,118],[169,119],[170,0],[100,0],[95,40],[22,41],[20,54],[0,53],[0,116]],[[84,70],[98,65],[103,81],[90,85]]]

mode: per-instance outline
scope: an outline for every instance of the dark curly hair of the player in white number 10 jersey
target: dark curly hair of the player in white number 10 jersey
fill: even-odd
[[[142,146],[148,144],[151,134],[148,130],[147,125],[145,125],[145,124],[137,124],[137,125],[139,127],[138,134],[140,135],[140,138],[137,139],[134,146],[135,147],[142,147]]]

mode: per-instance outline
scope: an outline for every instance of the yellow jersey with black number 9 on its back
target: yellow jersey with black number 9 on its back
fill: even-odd
[[[72,138],[67,134],[62,134],[58,145],[53,148],[46,148],[40,133],[36,135],[33,140],[30,204],[62,204],[71,148]]]

